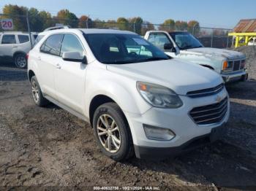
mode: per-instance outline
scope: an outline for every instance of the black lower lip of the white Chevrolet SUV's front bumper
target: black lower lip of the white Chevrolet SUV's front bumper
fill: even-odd
[[[163,160],[176,157],[193,149],[203,147],[221,138],[225,131],[225,124],[211,129],[211,133],[203,136],[197,136],[178,147],[141,147],[134,145],[136,157],[147,160]]]

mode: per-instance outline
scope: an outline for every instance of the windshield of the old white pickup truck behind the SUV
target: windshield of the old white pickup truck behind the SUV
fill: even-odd
[[[203,47],[203,45],[195,38],[195,36],[192,36],[189,33],[174,32],[170,33],[170,36],[172,36],[180,50]]]

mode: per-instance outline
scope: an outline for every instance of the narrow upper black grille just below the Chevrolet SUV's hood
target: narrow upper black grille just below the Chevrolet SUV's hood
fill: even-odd
[[[223,90],[224,84],[217,85],[216,87],[207,88],[203,90],[195,90],[187,93],[190,98],[200,98],[203,96],[214,95]]]

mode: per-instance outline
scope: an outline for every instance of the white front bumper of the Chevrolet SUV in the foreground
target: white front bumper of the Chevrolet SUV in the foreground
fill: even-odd
[[[187,145],[189,141],[200,138],[201,136],[207,136],[211,134],[212,129],[219,128],[225,124],[230,113],[229,102],[227,104],[227,112],[221,122],[209,125],[197,125],[192,120],[192,117],[189,116],[189,112],[195,107],[219,103],[217,97],[222,98],[222,100],[228,97],[227,90],[224,88],[217,95],[201,98],[189,98],[185,95],[180,95],[184,105],[178,109],[151,108],[144,114],[124,112],[129,122],[136,156],[139,158],[144,157],[148,155],[146,154],[148,152],[151,155],[156,155],[158,152],[160,154],[162,150],[174,154],[176,150],[184,148],[184,145]],[[148,139],[143,124],[170,129],[176,136],[170,141]]]

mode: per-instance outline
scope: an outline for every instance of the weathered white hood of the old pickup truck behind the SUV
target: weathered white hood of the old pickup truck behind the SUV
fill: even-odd
[[[184,50],[182,52],[187,54],[203,55],[206,57],[216,58],[219,60],[233,60],[245,58],[245,55],[242,52],[210,47],[192,48]]]

